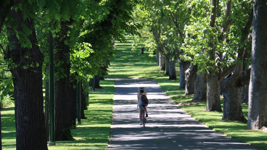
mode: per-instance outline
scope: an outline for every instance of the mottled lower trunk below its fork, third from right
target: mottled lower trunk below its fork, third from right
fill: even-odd
[[[205,111],[221,110],[220,81],[218,75],[207,75],[207,107]]]

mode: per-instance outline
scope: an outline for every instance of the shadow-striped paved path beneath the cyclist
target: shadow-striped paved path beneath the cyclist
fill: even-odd
[[[146,128],[139,126],[137,92],[145,87]],[[113,121],[108,150],[256,150],[219,134],[191,118],[152,79],[115,81]]]

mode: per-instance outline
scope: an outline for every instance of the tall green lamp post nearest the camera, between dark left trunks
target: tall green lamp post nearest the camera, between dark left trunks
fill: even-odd
[[[49,32],[49,142],[55,146],[55,99],[54,99],[54,49],[53,36]]]

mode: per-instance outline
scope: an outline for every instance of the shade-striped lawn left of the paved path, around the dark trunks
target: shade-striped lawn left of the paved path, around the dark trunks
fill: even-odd
[[[81,119],[81,125],[72,130],[72,141],[56,141],[49,150],[106,150],[112,121],[114,81],[101,80],[103,89],[89,93],[89,108],[85,110],[87,119]],[[1,110],[2,148],[16,149],[14,106]]]

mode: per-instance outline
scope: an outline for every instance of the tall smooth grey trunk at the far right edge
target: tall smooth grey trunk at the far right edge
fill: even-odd
[[[267,5],[254,0],[252,32],[251,78],[247,129],[258,130],[267,126]]]

